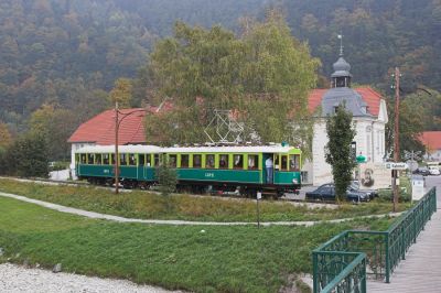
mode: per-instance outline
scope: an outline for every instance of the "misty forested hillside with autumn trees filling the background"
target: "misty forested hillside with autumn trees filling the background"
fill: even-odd
[[[31,121],[47,124],[60,116],[67,135],[111,107],[109,93],[119,85],[133,89],[131,106],[139,106],[149,86],[142,84],[148,55],[176,20],[239,34],[247,18],[261,20],[273,7],[321,59],[324,77],[342,33],[355,83],[388,93],[390,69],[400,66],[404,93],[416,85],[441,89],[441,0],[3,0],[0,124],[14,137],[32,130]]]

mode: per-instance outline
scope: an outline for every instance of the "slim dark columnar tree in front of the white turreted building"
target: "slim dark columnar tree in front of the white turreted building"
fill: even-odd
[[[335,196],[337,200],[342,200],[349,186],[352,171],[356,166],[351,153],[355,129],[352,126],[352,113],[345,110],[344,104],[338,106],[335,115],[327,117],[326,133],[329,142],[325,146],[325,160],[332,166]]]

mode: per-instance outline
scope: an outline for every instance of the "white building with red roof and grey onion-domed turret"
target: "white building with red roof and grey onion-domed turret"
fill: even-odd
[[[303,165],[303,183],[318,186],[333,182],[331,165],[325,162],[325,145],[329,141],[325,118],[335,113],[336,109],[344,105],[353,115],[356,130],[352,144],[354,152],[367,159],[367,162],[358,170],[361,175],[357,175],[363,185],[363,174],[367,169],[383,166],[386,154],[385,126],[388,121],[386,101],[370,87],[351,87],[351,65],[343,58],[343,52],[333,68],[331,88],[314,89],[309,96],[308,108],[314,113],[316,120],[312,141],[312,161],[306,161]]]

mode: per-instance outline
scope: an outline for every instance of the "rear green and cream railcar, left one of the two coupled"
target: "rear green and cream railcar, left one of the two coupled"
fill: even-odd
[[[155,182],[162,148],[154,145],[120,145],[118,148],[119,177],[127,187]],[[76,175],[95,184],[115,182],[115,145],[86,146],[75,154]]]

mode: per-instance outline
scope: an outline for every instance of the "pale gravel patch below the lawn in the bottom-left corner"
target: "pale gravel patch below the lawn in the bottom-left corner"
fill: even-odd
[[[125,280],[99,279],[72,273],[53,273],[41,269],[25,269],[11,263],[0,264],[0,292],[61,293],[61,292],[172,292],[160,287],[137,285]],[[174,291],[181,292],[181,291]]]

